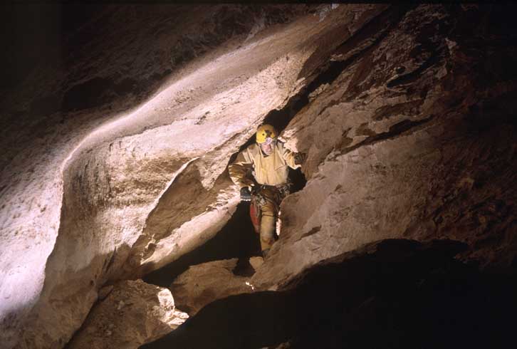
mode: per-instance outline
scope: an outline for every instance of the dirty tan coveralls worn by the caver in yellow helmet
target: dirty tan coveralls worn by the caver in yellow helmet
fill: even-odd
[[[261,186],[260,194],[265,197],[261,204],[261,249],[262,251],[271,248],[275,241],[276,218],[278,207],[284,197],[280,187],[287,183],[289,169],[296,169],[294,161],[296,153],[286,149],[282,142],[276,142],[271,155],[264,155],[257,144],[250,145],[237,155],[236,160],[229,165],[228,172],[231,180],[239,187],[250,187],[254,181],[248,176],[249,170],[258,184]]]

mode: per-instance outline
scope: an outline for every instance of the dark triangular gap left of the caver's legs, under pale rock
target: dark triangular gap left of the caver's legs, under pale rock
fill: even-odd
[[[226,226],[216,236],[167,266],[147,274],[143,280],[158,286],[169,287],[172,280],[186,271],[189,266],[221,259],[247,260],[250,256],[261,256],[261,248],[258,235],[249,218],[249,202],[241,202]],[[246,264],[239,261],[238,268],[239,266],[245,267]]]

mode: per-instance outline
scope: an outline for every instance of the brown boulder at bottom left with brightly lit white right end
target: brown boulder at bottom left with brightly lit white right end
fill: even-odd
[[[167,288],[142,280],[116,283],[93,306],[68,349],[136,349],[174,330],[189,316],[177,310]]]

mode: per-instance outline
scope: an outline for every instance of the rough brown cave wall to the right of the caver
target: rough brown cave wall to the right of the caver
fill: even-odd
[[[335,50],[338,73],[283,134],[308,153],[308,183],[284,200],[255,286],[387,238],[463,241],[461,258],[481,267],[515,261],[511,19],[504,7],[442,5],[377,19]]]

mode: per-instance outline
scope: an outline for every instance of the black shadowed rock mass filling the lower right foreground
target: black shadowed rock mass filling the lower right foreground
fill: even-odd
[[[454,259],[464,249],[456,241],[368,244],[280,291],[214,301],[140,348],[513,348],[516,275]]]

